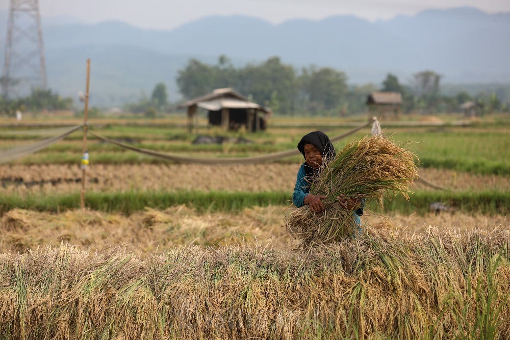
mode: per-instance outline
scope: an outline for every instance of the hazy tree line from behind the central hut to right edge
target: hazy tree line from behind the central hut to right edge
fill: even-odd
[[[283,115],[352,115],[366,110],[367,95],[374,91],[400,92],[403,112],[458,112],[460,105],[474,101],[483,112],[509,110],[496,93],[469,94],[460,91],[453,96],[441,93],[441,75],[424,70],[413,74],[410,84],[403,85],[389,73],[382,86],[347,85],[347,75],[330,67],[309,66],[295,69],[272,57],[259,64],[236,68],[226,56],[215,65],[190,59],[179,71],[177,86],[185,99],[195,98],[216,88],[231,87],[249,99]],[[507,92],[508,88],[504,88]]]

